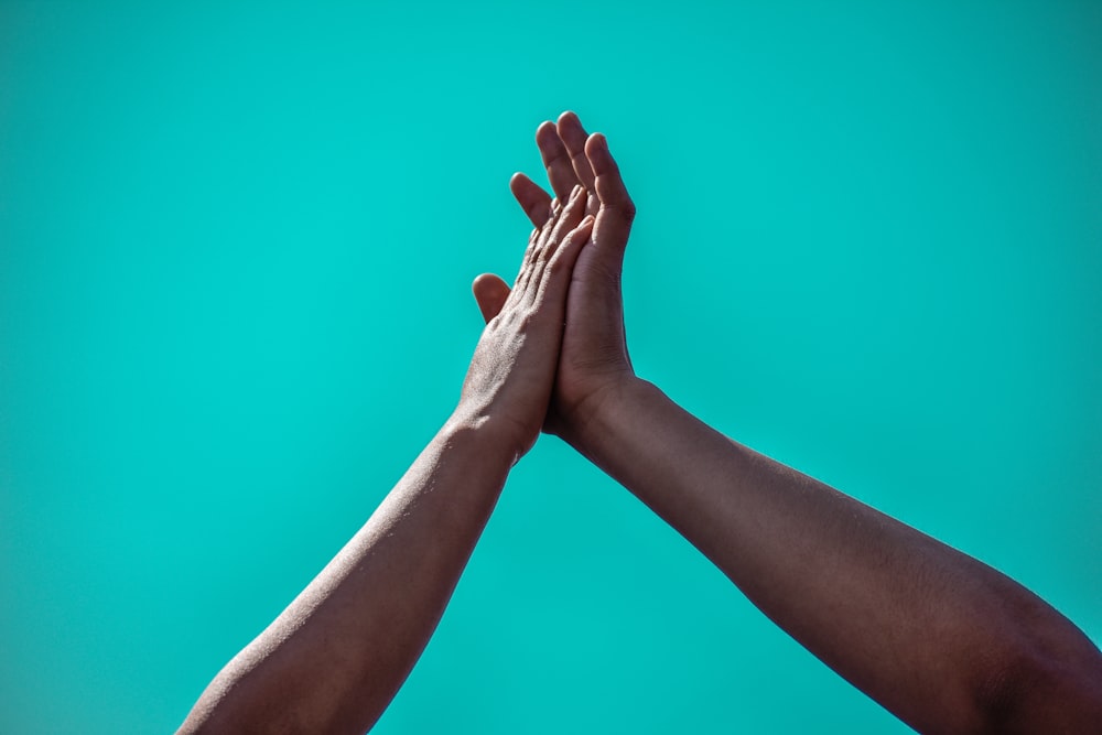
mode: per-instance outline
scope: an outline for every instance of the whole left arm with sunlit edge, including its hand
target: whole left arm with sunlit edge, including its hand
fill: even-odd
[[[509,468],[543,423],[585,196],[532,234],[460,404],[367,523],[215,678],[181,733],[363,733],[435,629]]]

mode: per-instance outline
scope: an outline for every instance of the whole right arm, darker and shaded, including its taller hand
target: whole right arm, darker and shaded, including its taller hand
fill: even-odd
[[[554,192],[580,181],[598,205],[569,295],[551,428],[910,725],[1088,732],[1102,722],[1102,656],[1057,610],[979,561],[728,440],[635,377],[619,293],[631,201],[604,138],[586,136],[572,114],[541,126],[537,142]],[[550,197],[531,181],[516,177],[514,193],[529,216],[545,213]]]

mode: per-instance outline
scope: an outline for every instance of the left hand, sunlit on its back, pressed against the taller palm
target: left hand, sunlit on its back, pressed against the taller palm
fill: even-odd
[[[594,226],[594,217],[585,215],[587,199],[585,190],[574,186],[566,206],[554,206],[532,230],[511,290],[504,283],[504,292],[497,288],[496,277],[479,275],[474,282],[487,324],[456,413],[500,426],[512,443],[515,461],[536,443],[548,413],[571,273]],[[488,313],[487,299],[498,295],[500,301],[495,300]]]

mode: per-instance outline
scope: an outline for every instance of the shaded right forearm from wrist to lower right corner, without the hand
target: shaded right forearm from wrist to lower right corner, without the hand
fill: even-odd
[[[732,442],[644,381],[592,415],[568,441],[911,725],[983,727],[1069,681],[1098,706],[1098,650],[995,570]]]

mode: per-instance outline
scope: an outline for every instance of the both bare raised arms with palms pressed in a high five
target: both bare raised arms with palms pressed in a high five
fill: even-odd
[[[512,288],[490,274],[475,280],[487,326],[458,407],[345,549],[215,678],[180,732],[370,728],[541,428],[619,479],[767,616],[911,726],[1093,732],[1102,655],[1058,612],[723,436],[636,377],[620,299],[635,207],[604,137],[588,136],[573,114],[543,123],[537,142],[554,196],[512,179],[537,229]]]

